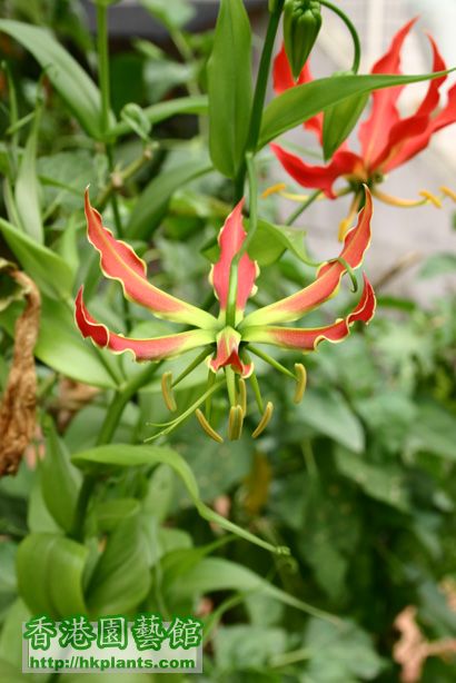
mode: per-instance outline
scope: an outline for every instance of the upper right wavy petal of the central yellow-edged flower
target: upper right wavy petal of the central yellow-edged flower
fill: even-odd
[[[365,251],[370,242],[371,215],[371,197],[366,188],[365,206],[358,215],[357,226],[347,232],[339,260],[327,261],[320,266],[314,283],[300,291],[246,316],[241,323],[242,330],[256,325],[297,320],[305,313],[308,313],[334,296],[337,293],[343,275],[347,271],[346,265],[349,268],[357,268],[363,263]]]

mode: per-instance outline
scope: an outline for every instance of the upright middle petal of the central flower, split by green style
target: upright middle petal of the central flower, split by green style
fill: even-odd
[[[220,301],[220,310],[224,311],[227,308],[228,303],[228,289],[229,289],[229,274],[231,268],[231,261],[239,253],[247,232],[242,227],[242,206],[244,199],[234,208],[231,214],[225,221],[218,237],[220,245],[220,258],[212,266],[209,276],[209,281],[214,286],[214,290],[218,300]],[[255,279],[258,274],[258,267],[255,261],[250,259],[248,254],[244,254],[238,265],[238,287],[236,310],[242,313],[247,299],[255,294]]]

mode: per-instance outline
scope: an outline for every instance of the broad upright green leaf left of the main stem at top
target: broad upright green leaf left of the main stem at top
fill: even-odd
[[[251,31],[242,0],[221,0],[207,69],[210,157],[217,170],[235,178],[251,109]]]

